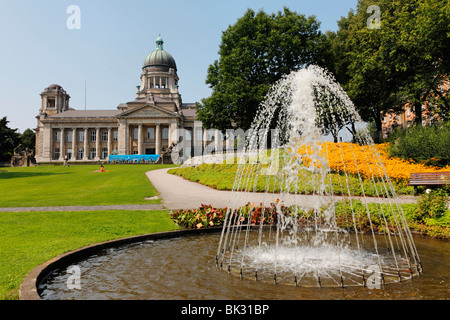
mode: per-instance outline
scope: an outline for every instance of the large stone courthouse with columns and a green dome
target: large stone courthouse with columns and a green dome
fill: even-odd
[[[194,103],[182,103],[177,65],[163,49],[145,58],[141,85],[134,101],[113,110],[75,110],[69,94],[57,84],[41,93],[36,128],[36,161],[108,161],[110,155],[160,155],[178,129],[186,129],[187,141],[202,138]],[[186,131],[185,131],[186,132]],[[192,141],[192,145],[195,141]]]

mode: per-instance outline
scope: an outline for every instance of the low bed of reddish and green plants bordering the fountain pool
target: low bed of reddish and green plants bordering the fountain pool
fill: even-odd
[[[371,232],[372,228],[375,232],[379,233],[385,233],[387,230],[389,232],[396,232],[396,227],[385,222],[385,219],[389,221],[389,217],[392,214],[392,207],[390,205],[383,205],[383,210],[380,210],[379,204],[369,203],[366,206],[361,201],[355,201],[352,206],[353,213],[350,213],[351,211],[348,209],[348,206],[348,201],[341,201],[336,204],[333,214],[335,222],[327,221],[325,215],[316,213],[313,210],[303,211],[297,207],[287,207],[277,205],[277,203],[271,204],[268,207],[248,203],[233,211],[228,208],[215,208],[212,205],[202,205],[199,209],[195,210],[178,210],[172,212],[171,218],[177,225],[183,228],[210,228],[223,226],[228,211],[230,215],[228,219],[231,219],[231,225],[276,225],[279,219],[279,212],[281,212],[283,217],[294,218],[299,226],[335,223],[337,227],[350,232],[354,231],[355,225],[358,228],[358,232]],[[442,214],[439,219],[418,221],[416,219],[418,213],[415,205],[402,205],[402,207],[411,229],[434,238],[450,239],[450,210]],[[370,219],[368,218],[367,210],[370,212]],[[280,221],[283,222],[283,220]],[[356,221],[356,224],[354,221]],[[227,223],[229,222],[230,220],[227,220]]]

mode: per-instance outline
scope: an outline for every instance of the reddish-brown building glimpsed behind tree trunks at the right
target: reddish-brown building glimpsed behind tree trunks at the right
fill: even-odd
[[[444,80],[441,84],[441,91],[447,92],[449,88],[449,80]],[[438,120],[437,115],[430,116],[428,102],[422,105],[422,125],[428,125]],[[389,112],[382,114],[383,138],[387,138],[396,128],[405,128],[414,124],[415,114],[413,106],[407,103],[402,112]]]

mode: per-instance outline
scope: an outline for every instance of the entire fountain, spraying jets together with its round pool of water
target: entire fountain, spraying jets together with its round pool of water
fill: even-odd
[[[222,229],[140,236],[68,254],[61,258],[67,261],[39,271],[40,297],[404,299],[407,292],[411,299],[448,298],[443,284],[450,274],[441,266],[450,251],[420,237],[416,249],[370,136],[360,133],[357,144],[330,143],[358,121],[352,102],[325,70],[310,66],[287,75],[255,118],[248,156],[237,159]],[[249,194],[261,195],[261,181],[264,205],[243,206]],[[81,289],[68,286],[71,263]]]

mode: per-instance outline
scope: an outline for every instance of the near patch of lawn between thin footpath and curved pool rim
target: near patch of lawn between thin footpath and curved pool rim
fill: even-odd
[[[176,230],[168,211],[0,214],[0,299],[18,299],[34,267],[67,251],[127,236]]]

